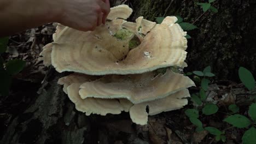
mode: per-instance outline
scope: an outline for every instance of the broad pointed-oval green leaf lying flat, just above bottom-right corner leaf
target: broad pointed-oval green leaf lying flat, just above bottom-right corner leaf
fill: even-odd
[[[223,121],[237,128],[246,128],[251,124],[250,120],[247,117],[239,114],[231,115],[225,118]]]

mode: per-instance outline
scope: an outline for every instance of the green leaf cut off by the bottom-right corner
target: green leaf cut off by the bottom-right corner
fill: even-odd
[[[245,134],[243,134],[242,140],[243,144],[255,144],[256,143],[256,129],[254,127],[248,129]]]

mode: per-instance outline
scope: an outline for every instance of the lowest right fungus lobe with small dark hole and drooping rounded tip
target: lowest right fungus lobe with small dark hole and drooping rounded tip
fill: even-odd
[[[181,109],[184,105],[188,104],[188,100],[184,99],[186,97],[190,97],[187,88],[162,99],[133,105],[129,110],[132,122],[145,125],[148,122],[148,115],[152,116],[165,111]],[[147,106],[149,109],[148,113],[146,111]]]

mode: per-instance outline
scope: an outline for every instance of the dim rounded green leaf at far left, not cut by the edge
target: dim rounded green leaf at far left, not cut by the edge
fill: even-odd
[[[10,75],[16,75],[25,67],[26,62],[20,59],[13,59],[5,64],[5,69]]]

